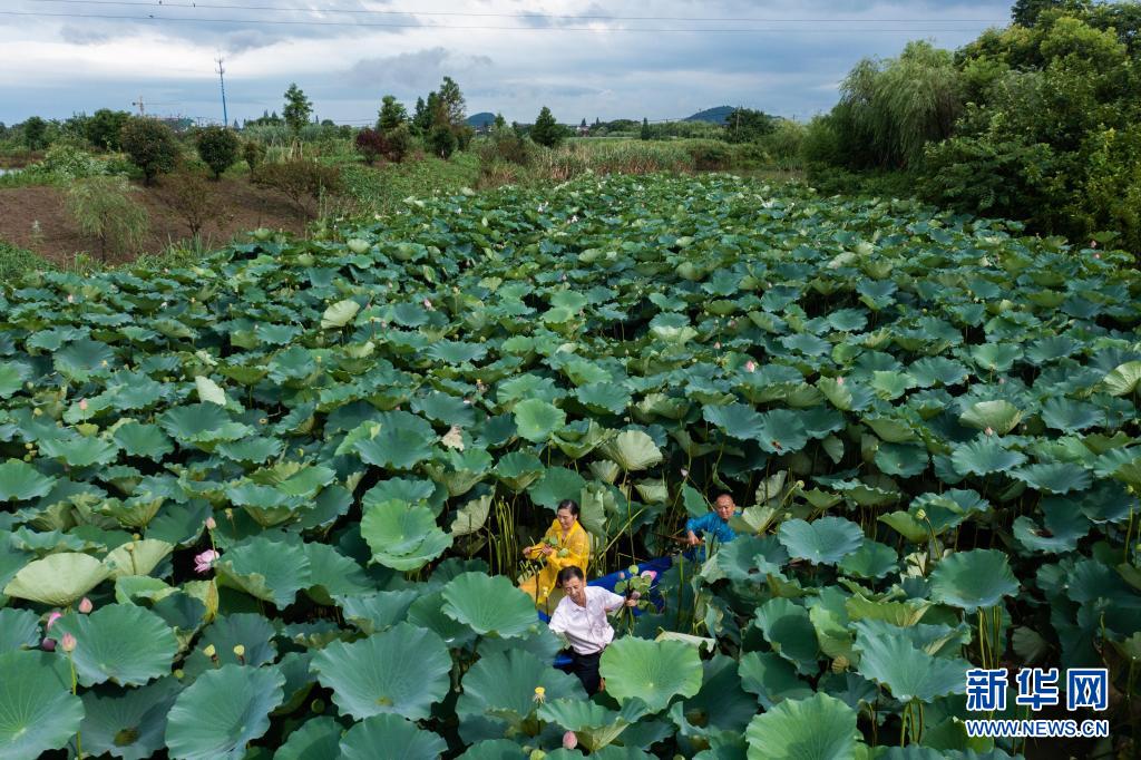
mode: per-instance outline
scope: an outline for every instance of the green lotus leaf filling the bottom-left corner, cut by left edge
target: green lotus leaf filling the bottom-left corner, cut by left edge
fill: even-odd
[[[66,657],[46,652],[0,654],[0,753],[35,760],[79,730],[83,703],[72,694]]]

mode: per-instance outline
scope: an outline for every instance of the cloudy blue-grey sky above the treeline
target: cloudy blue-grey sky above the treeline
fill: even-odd
[[[992,0],[0,0],[0,121],[100,107],[221,120],[281,110],[364,124],[448,74],[468,112],[565,122],[744,105],[806,119],[865,56],[956,48],[1006,23]]]

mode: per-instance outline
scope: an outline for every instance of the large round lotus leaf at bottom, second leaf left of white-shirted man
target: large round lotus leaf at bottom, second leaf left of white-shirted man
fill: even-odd
[[[333,641],[309,666],[321,685],[333,690],[341,712],[357,720],[385,712],[428,718],[431,705],[451,688],[447,645],[408,623],[353,644]]]

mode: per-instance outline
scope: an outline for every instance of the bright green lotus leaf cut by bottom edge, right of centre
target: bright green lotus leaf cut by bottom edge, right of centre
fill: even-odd
[[[745,729],[748,760],[851,760],[856,711],[827,694],[785,700]]]

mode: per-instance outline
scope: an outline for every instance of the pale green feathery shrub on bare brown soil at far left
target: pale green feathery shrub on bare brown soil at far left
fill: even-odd
[[[123,177],[89,177],[67,191],[67,212],[84,234],[99,241],[99,260],[107,252],[138,250],[147,229],[147,213],[131,199],[133,188]]]

